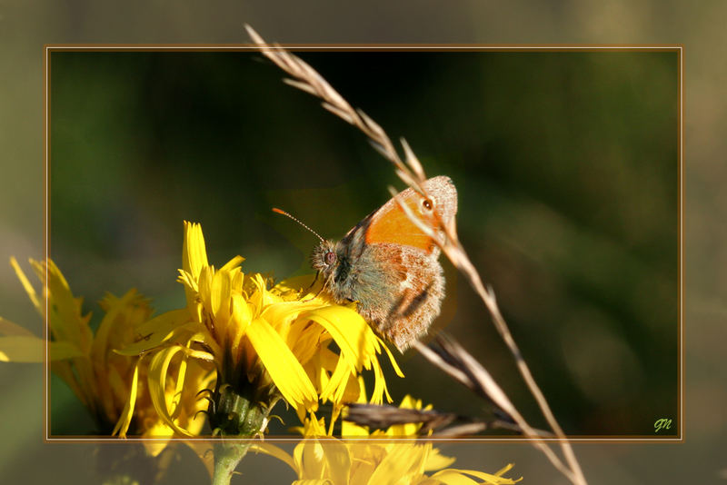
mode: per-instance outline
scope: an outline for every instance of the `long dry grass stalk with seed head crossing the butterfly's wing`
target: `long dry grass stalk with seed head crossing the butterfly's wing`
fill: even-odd
[[[267,45],[263,38],[260,35],[257,35],[257,33],[254,32],[249,25],[245,25],[245,28],[247,29],[250,37],[253,39],[255,45],[260,48],[260,51],[273,61],[274,64],[283,69],[284,72],[294,77],[293,85],[295,87],[302,89],[306,93],[317,96],[324,102],[324,107],[328,111],[331,111],[337,116],[343,118],[346,122],[354,124],[354,126],[361,130],[373,142],[374,146],[379,149],[379,152],[382,153],[387,160],[394,164],[396,174],[402,179],[403,183],[406,183],[418,193],[428,196],[422,186],[423,182],[426,180],[426,175],[423,172],[421,163],[419,163],[413,155],[413,151],[407,144],[403,144],[403,150],[406,158],[406,163],[403,163],[382,127],[379,126],[379,124],[376,124],[361,110],[354,110],[354,108],[352,108],[351,105],[348,104],[320,74],[315,72],[310,65],[304,63],[303,60],[294,54],[288,53],[279,45]],[[394,193],[396,192],[394,191]],[[583,471],[581,470],[578,460],[575,459],[573,449],[566,439],[563,429],[555,420],[553,411],[551,411],[550,406],[543,396],[543,392],[536,384],[527,363],[523,360],[522,353],[515,343],[513,336],[503,319],[500,309],[497,307],[497,302],[495,301],[492,289],[485,289],[479,273],[474,268],[473,263],[467,256],[467,253],[464,251],[457,236],[455,224],[444,224],[440,220],[437,222],[437,227],[432,228],[431,226],[424,224],[423,221],[421,221],[411,210],[407,211],[408,207],[403,205],[400,201],[398,201],[398,199],[397,202],[412,222],[422,229],[424,233],[432,237],[434,243],[436,243],[447,258],[453,262],[453,265],[463,272],[463,275],[466,277],[467,281],[470,282],[474,291],[477,292],[482,299],[485,307],[493,317],[493,322],[497,331],[500,333],[503,341],[505,341],[508,348],[513,353],[518,371],[520,371],[523,376],[523,380],[533,393],[533,397],[535,398],[535,401],[537,401],[545,419],[548,421],[548,424],[553,429],[555,435],[561,439],[560,443],[563,455],[565,460],[568,462],[570,470],[561,463],[561,461],[553,454],[553,451],[545,446],[542,441],[534,439],[533,444],[543,450],[543,453],[548,456],[549,460],[553,462],[553,465],[558,470],[563,472],[568,480],[571,480],[575,484],[585,484],[586,480],[583,476]],[[440,231],[443,233],[443,237],[437,237],[436,232]],[[519,416],[519,414],[516,411],[513,412],[513,418],[516,418],[517,416]],[[523,430],[529,436],[535,436],[535,434],[533,434],[534,430],[530,428],[527,423],[524,423],[524,421],[518,421],[518,425],[522,426]]]

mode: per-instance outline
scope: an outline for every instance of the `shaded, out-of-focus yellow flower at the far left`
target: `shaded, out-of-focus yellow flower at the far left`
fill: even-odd
[[[123,427],[124,431],[131,429],[132,433],[144,438],[171,438],[174,431],[154,411],[151,397],[146,391],[147,386],[139,384],[145,382],[148,367],[137,357],[116,352],[143,338],[140,329],[153,312],[148,301],[134,289],[121,298],[106,294],[99,303],[104,317],[93,332],[88,324],[91,314],[83,315],[81,310],[83,299],[74,297],[63,273],[54,262],[31,260],[33,270],[42,283],[45,298],[38,296],[15,259],[11,259],[11,264],[35,309],[41,316],[47,317],[51,370],[65,381],[94,416],[99,431],[111,435],[113,429]],[[43,361],[43,339],[15,323],[2,323],[0,333],[5,336],[0,337],[0,360]],[[186,371],[188,376],[192,376],[188,379],[200,381],[200,385],[209,382],[212,375],[209,368],[205,370],[196,364],[185,366],[180,362],[174,364],[174,368],[177,372]],[[168,388],[166,391],[174,393],[174,389]],[[130,395],[138,403],[134,412],[128,412]],[[175,422],[199,432],[202,420],[195,425],[189,419],[200,407],[204,409],[204,402],[198,403],[194,399],[184,402],[191,405],[179,409]],[[164,440],[147,441],[145,444],[147,451],[154,456],[166,445]]]

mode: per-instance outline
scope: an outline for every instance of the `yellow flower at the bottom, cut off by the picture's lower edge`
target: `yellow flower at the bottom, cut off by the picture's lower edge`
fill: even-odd
[[[363,390],[363,381],[361,386]],[[407,396],[400,407],[422,409],[422,402]],[[306,438],[295,447],[293,456],[269,443],[257,444],[254,449],[287,463],[298,476],[294,484],[504,485],[518,481],[503,477],[512,464],[495,473],[446,468],[455,459],[440,454],[432,442],[415,440],[420,426],[397,425],[369,433],[364,427],[344,421],[342,435],[354,439],[337,440],[326,432],[324,419],[316,420],[312,413],[301,430]],[[392,437],[398,439],[386,440]],[[412,440],[403,441],[402,437]]]

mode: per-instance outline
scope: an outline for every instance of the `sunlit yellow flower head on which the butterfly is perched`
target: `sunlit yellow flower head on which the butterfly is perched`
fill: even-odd
[[[351,383],[364,369],[374,373],[372,401],[383,401],[383,395],[390,400],[378,361],[382,349],[401,371],[354,308],[304,294],[301,280],[270,288],[261,274],[242,272],[240,256],[215,269],[207,262],[199,224],[184,223],[183,248],[178,281],[184,284],[186,308],[146,322],[140,333],[147,338],[122,351],[151,359],[154,407],[175,431],[193,434],[174,424],[174,402],[164,393],[168,362],[176,358],[214,362],[209,418],[213,433],[224,436],[264,431],[281,398],[301,419],[319,400],[331,401],[337,416],[344,401],[357,398]],[[329,349],[332,342],[338,353]],[[177,390],[186,387],[183,378],[174,381]]]

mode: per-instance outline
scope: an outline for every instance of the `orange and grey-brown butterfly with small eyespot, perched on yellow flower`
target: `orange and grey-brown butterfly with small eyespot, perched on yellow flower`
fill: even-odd
[[[423,189],[428,198],[412,188],[396,197],[433,228],[438,227],[437,216],[449,223],[457,213],[452,180],[433,177]],[[357,302],[364,320],[402,352],[428,331],[444,298],[440,250],[395,199],[364,217],[338,242],[318,237],[321,243],[311,254],[311,266],[334,302]]]

